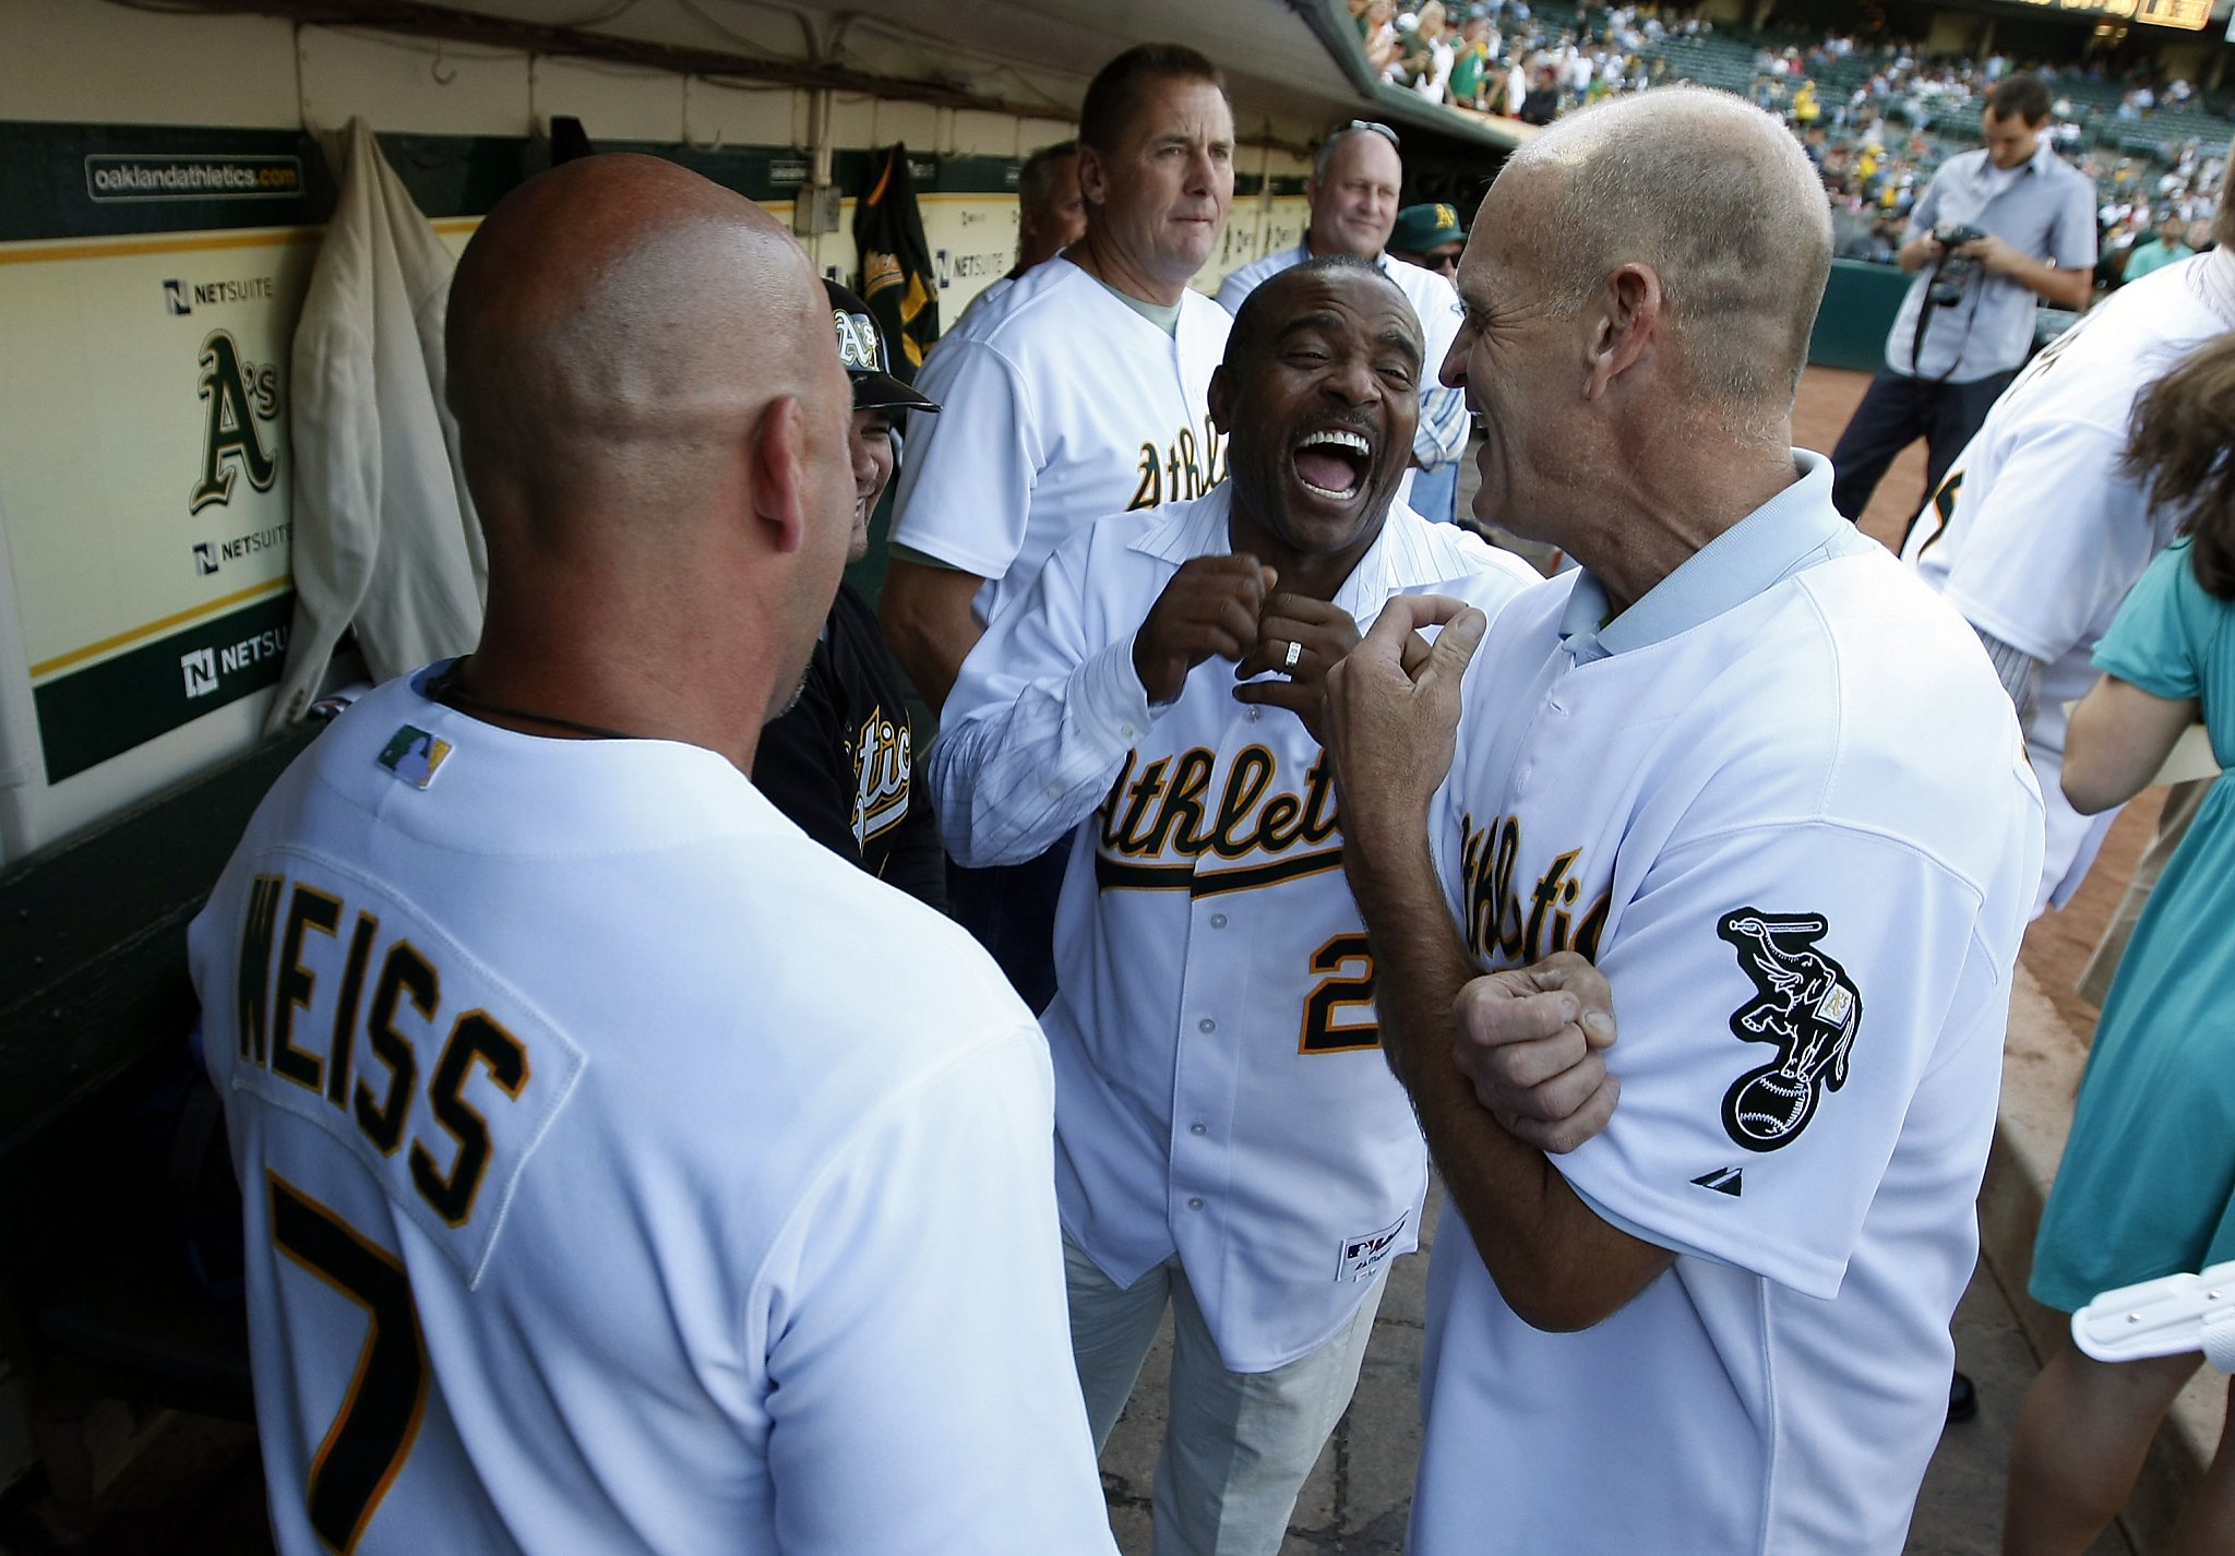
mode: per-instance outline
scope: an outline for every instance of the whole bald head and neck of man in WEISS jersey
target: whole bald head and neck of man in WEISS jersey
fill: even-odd
[[[854,528],[854,396],[807,255],[653,156],[507,194],[449,293],[489,548],[481,695],[751,765]]]

